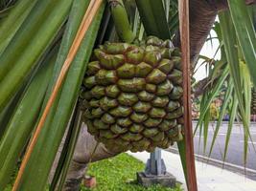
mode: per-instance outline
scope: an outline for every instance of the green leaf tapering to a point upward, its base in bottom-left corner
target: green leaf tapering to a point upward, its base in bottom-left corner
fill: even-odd
[[[41,64],[26,93],[15,108],[7,132],[2,138],[0,144],[0,190],[4,190],[10,180],[20,153],[35,126],[49,78],[53,72],[57,53],[58,47],[49,53]]]

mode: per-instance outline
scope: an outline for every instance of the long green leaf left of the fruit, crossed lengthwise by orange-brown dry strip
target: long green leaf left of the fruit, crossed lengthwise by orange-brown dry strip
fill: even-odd
[[[84,0],[76,0],[76,2],[77,3],[74,4],[76,9],[74,10],[73,7],[73,16],[70,17],[71,20],[69,21],[70,23],[75,22],[77,28],[70,28],[72,24],[69,23],[67,28],[68,33],[65,35],[67,38],[64,38],[65,42],[61,45],[65,46],[61,49],[64,53],[60,51],[58,54],[58,61],[60,63],[65,59],[67,53],[65,51],[69,50],[79,28],[84,11],[89,3],[89,1]],[[63,137],[69,117],[71,117],[76,99],[79,95],[82,77],[94,46],[104,7],[105,5],[102,6],[101,11],[98,12],[89,31],[86,33],[81,43],[80,50],[69,69],[61,93],[59,93],[58,99],[55,101],[51,113],[47,117],[46,123],[36,142],[31,159],[29,159],[24,176],[19,185],[20,190],[44,190],[52,163],[58,152],[59,143]],[[47,155],[45,155],[46,153]]]

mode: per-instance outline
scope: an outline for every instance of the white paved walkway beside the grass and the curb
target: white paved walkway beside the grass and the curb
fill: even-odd
[[[129,155],[146,162],[150,154],[147,152],[130,153]],[[167,151],[162,151],[167,171],[176,179],[185,184],[179,156]],[[256,191],[256,181],[244,178],[243,175],[223,170],[219,167],[205,164],[196,160],[198,191]]]

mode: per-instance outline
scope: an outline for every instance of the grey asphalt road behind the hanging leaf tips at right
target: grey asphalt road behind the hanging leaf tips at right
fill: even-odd
[[[196,122],[193,123],[194,127],[196,126]],[[208,157],[209,149],[211,146],[212,138],[214,135],[214,128],[215,125],[211,124],[209,126],[208,131],[208,140],[206,146],[206,152],[203,153],[203,137],[201,137],[199,142],[199,133],[195,135],[194,138],[194,145],[195,145],[195,153],[198,156]],[[244,129],[243,125],[241,124],[234,124],[232,134],[229,140],[228,152],[226,156],[226,162],[239,165],[244,169]],[[218,137],[215,142],[215,146],[212,151],[211,159],[218,159],[222,161],[222,155],[224,153],[224,145],[226,139],[226,132],[227,132],[227,123],[223,122],[221,125]],[[247,154],[247,162],[246,168],[252,169],[256,172],[256,152],[253,150],[252,145],[254,144],[256,148],[256,124],[251,124],[250,126],[250,133],[252,141],[249,140],[248,142],[248,154]],[[243,171],[243,170],[242,170]],[[254,175],[253,175],[254,177]],[[255,178],[256,180],[256,174]]]

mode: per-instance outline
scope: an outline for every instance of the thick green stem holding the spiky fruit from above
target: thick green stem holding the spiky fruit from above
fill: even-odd
[[[122,0],[108,0],[115,29],[122,41],[131,43],[135,39],[128,22],[128,13]]]

